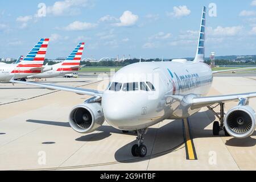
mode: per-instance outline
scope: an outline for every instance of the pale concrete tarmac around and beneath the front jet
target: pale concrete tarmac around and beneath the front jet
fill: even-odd
[[[109,80],[87,75],[42,82],[104,90]],[[225,73],[214,77],[209,96],[255,90],[255,74]],[[123,134],[106,122],[91,134],[71,129],[71,109],[88,98],[0,83],[0,170],[256,170],[256,133],[246,139],[224,137],[223,132],[213,137],[213,121],[218,119],[207,108],[189,118],[189,125],[166,120],[150,127],[144,140],[146,158],[134,158],[134,133]],[[253,109],[255,101],[250,100]],[[229,102],[225,111],[236,105]]]

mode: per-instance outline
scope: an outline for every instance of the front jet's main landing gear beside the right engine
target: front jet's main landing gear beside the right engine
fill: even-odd
[[[217,114],[216,111],[213,110],[217,106],[220,106],[220,115]],[[228,134],[228,132],[226,131],[225,126],[224,126],[224,103],[221,103],[217,106],[215,106],[215,107],[208,106],[208,109],[211,110],[213,112],[213,114],[216,115],[216,117],[218,119],[220,119],[220,121],[214,121],[214,123],[213,123],[213,135],[218,136],[218,135],[220,135],[220,131],[224,131],[225,136],[228,137],[230,135]]]

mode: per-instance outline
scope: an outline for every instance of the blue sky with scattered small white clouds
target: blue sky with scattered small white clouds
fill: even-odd
[[[206,56],[256,55],[256,0],[0,1],[0,57],[26,55],[50,38],[48,59],[85,42],[83,57],[194,57],[208,8]]]

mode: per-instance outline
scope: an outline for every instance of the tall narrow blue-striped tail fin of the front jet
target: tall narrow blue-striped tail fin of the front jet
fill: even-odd
[[[195,63],[204,62],[204,57],[205,57],[204,43],[205,43],[205,18],[206,18],[206,10],[207,10],[207,8],[204,6],[203,7],[202,18],[201,18],[199,40],[198,40],[198,44],[197,44],[197,52],[196,52],[196,57],[195,57],[195,60],[194,60]]]

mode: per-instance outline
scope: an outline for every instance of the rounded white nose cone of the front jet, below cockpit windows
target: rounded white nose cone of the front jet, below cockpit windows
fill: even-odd
[[[133,102],[115,95],[102,97],[102,109],[106,121],[116,129],[125,129],[136,118]]]

